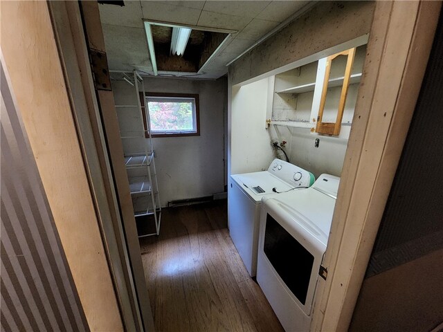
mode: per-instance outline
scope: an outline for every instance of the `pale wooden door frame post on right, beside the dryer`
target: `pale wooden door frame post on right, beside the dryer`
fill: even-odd
[[[440,8],[440,1],[377,1],[311,331],[349,327]]]

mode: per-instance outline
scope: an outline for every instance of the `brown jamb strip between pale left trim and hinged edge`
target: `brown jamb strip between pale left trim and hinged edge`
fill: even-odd
[[[102,132],[96,132],[97,126],[90,118],[96,117],[99,120],[100,115],[79,6],[75,2],[48,1],[48,10],[120,315],[125,329],[139,331],[132,275],[126,266],[129,259],[125,239],[121,227],[118,227],[121,224],[120,213],[117,210],[115,191],[109,185],[112,175],[109,167],[106,167],[109,166],[109,160],[105,139]]]

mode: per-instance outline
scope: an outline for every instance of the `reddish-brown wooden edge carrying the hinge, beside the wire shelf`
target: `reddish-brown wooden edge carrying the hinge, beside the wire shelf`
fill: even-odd
[[[69,6],[70,1],[66,1]],[[102,22],[97,1],[79,1],[84,35],[87,39],[87,50],[98,50],[106,54],[105,37],[103,36]],[[134,208],[129,190],[129,181],[125,160],[123,158],[123,142],[120,137],[117,111],[112,90],[96,89],[96,98],[100,115],[102,116],[102,130],[105,132],[109,162],[111,163],[114,186],[118,200],[118,208],[124,228],[125,245],[129,255],[128,270],[132,275],[132,281],[136,291],[134,304],[138,313],[134,318],[141,319],[140,331],[154,331],[154,319],[150,306],[150,297],[147,291],[145,270],[141,260],[141,249],[138,242]]]

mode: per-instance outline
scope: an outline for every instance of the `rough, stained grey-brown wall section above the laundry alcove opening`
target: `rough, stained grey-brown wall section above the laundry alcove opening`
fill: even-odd
[[[374,1],[320,1],[229,66],[238,84],[369,33]]]

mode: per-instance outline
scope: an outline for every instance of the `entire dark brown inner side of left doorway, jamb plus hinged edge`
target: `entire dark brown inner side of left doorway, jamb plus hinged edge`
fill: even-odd
[[[97,91],[91,73],[91,41],[104,51],[98,3],[48,1],[48,8],[124,329],[154,331],[114,95]]]

